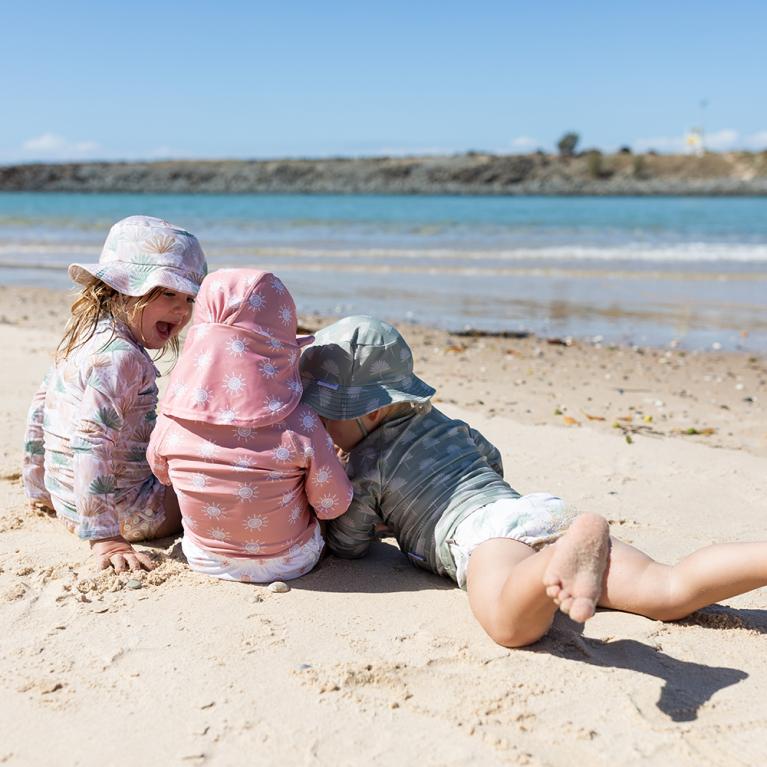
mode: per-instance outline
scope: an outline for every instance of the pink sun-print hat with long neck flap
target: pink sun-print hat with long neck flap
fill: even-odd
[[[256,269],[208,275],[162,412],[232,426],[266,426],[301,399],[296,306],[282,281]]]

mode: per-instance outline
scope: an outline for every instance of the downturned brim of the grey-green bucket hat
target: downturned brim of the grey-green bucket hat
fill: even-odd
[[[400,402],[421,404],[428,402],[436,394],[436,389],[415,375],[410,376],[410,384],[407,386],[376,383],[353,387],[350,391],[342,386],[334,389],[316,379],[304,379],[303,386],[301,402],[313,407],[323,418],[331,418],[334,421],[360,418],[378,408]]]

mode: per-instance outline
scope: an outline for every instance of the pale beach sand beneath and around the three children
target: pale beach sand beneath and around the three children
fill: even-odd
[[[0,288],[0,764],[767,761],[765,589],[674,624],[560,617],[509,651],[391,540],[286,594],[191,573],[176,540],[150,548],[167,557],[151,574],[94,573],[19,482],[66,307]],[[518,490],[667,561],[767,537],[764,358],[407,334],[438,405],[501,448]]]

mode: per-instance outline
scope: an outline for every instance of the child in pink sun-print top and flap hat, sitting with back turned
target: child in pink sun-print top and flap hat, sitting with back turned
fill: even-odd
[[[222,269],[203,282],[147,455],[173,484],[198,572],[298,578],[324,546],[317,518],[352,498],[333,440],[300,405],[296,308],[282,282]],[[312,512],[313,510],[313,512]]]

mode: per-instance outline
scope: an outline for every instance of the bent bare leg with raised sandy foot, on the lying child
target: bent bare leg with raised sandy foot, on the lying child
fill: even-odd
[[[504,647],[540,639],[557,605],[575,620],[587,620],[602,588],[608,542],[607,523],[595,514],[582,515],[556,544],[538,552],[508,538],[485,541],[472,553],[467,571],[474,616]],[[556,591],[557,601],[547,587]]]

